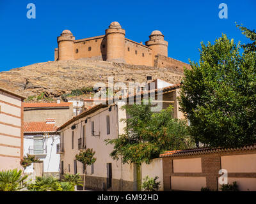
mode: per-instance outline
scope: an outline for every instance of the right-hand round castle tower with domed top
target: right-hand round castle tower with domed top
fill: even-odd
[[[153,31],[146,45],[152,49],[154,55],[168,56],[168,41],[164,40],[164,35],[160,31]]]

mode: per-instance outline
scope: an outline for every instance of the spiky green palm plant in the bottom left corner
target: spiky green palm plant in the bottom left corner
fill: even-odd
[[[21,170],[0,171],[0,191],[18,191],[24,187],[23,181],[28,175],[22,177]]]

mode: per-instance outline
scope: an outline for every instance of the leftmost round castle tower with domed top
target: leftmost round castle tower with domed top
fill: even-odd
[[[73,34],[65,30],[57,38],[58,41],[58,60],[74,59],[74,41]]]

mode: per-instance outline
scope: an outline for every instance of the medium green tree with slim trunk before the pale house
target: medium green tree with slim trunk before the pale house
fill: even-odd
[[[126,123],[125,133],[105,140],[114,145],[110,156],[122,157],[122,163],[136,164],[137,188],[141,189],[141,163],[149,164],[165,150],[187,149],[193,146],[185,120],[172,118],[172,106],[159,113],[150,111],[150,103],[124,105],[129,115],[121,119]]]

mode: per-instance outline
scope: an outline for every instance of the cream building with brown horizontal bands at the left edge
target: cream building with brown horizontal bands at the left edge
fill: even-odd
[[[21,168],[24,99],[0,87],[0,171]]]

